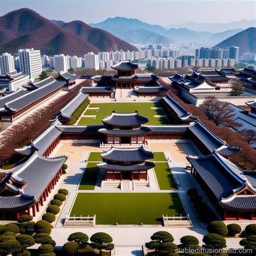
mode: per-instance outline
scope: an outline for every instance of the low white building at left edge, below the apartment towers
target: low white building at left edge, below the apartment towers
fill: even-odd
[[[16,91],[27,83],[29,83],[29,76],[17,70],[0,75],[0,88],[8,92]]]

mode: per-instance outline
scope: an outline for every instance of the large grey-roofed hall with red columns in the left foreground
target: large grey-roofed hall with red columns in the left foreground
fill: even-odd
[[[67,157],[46,158],[35,151],[9,172],[0,172],[0,220],[36,216],[62,176]]]

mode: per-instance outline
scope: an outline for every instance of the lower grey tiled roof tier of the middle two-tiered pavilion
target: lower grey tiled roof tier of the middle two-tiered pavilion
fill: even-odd
[[[119,130],[119,129],[99,129],[99,133],[112,135],[112,136],[140,136],[147,133],[150,133],[151,130],[147,127],[140,127],[133,130]]]

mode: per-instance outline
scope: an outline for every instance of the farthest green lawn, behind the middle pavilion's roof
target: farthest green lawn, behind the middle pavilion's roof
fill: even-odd
[[[163,115],[163,110],[151,109],[151,107],[160,107],[158,103],[94,103],[90,104],[89,107],[99,107],[99,109],[89,109],[85,111],[85,115],[96,115],[93,117],[82,117],[79,120],[78,125],[99,125],[102,124],[102,119],[106,116],[110,116],[112,111],[116,112],[134,112],[138,111],[139,114],[149,118],[151,125],[169,124],[166,118],[154,117],[156,115]]]

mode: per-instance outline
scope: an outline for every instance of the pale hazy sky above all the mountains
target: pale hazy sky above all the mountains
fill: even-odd
[[[228,23],[256,16],[255,0],[0,0],[0,15],[25,7],[49,19],[85,23],[121,16],[167,26],[188,21]]]

